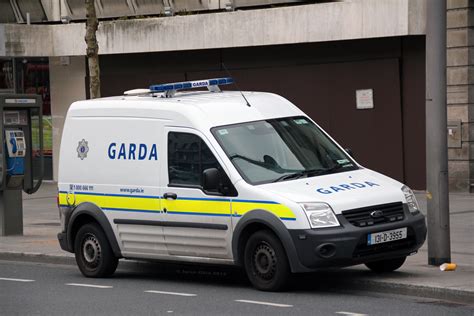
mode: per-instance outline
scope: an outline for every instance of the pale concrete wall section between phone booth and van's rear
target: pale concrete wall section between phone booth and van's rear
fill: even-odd
[[[49,59],[51,84],[51,115],[53,118],[53,179],[58,180],[59,147],[64,120],[71,103],[86,98],[85,57],[51,57]]]

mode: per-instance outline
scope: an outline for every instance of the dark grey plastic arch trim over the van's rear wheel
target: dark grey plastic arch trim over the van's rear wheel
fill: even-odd
[[[114,256],[121,258],[122,253],[109,220],[100,207],[90,202],[81,203],[72,211],[67,228],[67,241],[69,249],[74,252],[74,241],[76,234],[83,225],[88,223],[96,223],[102,228],[107,240],[110,243],[110,247],[112,248]]]

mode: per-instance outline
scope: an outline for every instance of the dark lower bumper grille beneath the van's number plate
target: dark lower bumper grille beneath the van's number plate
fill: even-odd
[[[354,250],[353,257],[360,258],[389,251],[411,249],[415,246],[415,244],[415,233],[410,227],[408,227],[406,239],[390,241],[383,244],[367,245],[367,235],[364,235],[359,240],[359,243],[357,244],[357,247]]]

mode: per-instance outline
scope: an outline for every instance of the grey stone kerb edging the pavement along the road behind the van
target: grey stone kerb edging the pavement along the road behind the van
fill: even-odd
[[[0,252],[0,260],[4,261],[23,261],[32,263],[46,263],[46,264],[62,264],[62,265],[76,265],[74,256],[61,255],[47,255],[41,253],[18,253],[18,252]],[[164,263],[166,265],[173,265],[173,263]],[[146,268],[153,265],[153,262],[126,260],[120,263],[120,266],[125,269]],[[179,268],[176,265],[176,269]],[[171,269],[173,270],[173,268]],[[329,280],[328,280],[329,281]],[[357,290],[375,293],[388,293],[397,295],[407,295],[420,298],[429,298],[436,300],[452,301],[462,304],[471,305],[474,302],[474,291],[461,290],[454,288],[442,288],[434,286],[424,286],[406,283],[393,283],[387,281],[357,279],[345,281],[339,285],[344,285],[344,290]],[[334,287],[330,287],[336,290]],[[340,288],[337,288],[340,290]]]

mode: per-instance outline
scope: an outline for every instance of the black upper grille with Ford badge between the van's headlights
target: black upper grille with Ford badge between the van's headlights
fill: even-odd
[[[343,211],[342,215],[349,223],[357,227],[392,223],[401,221],[405,218],[403,204],[401,202]]]

